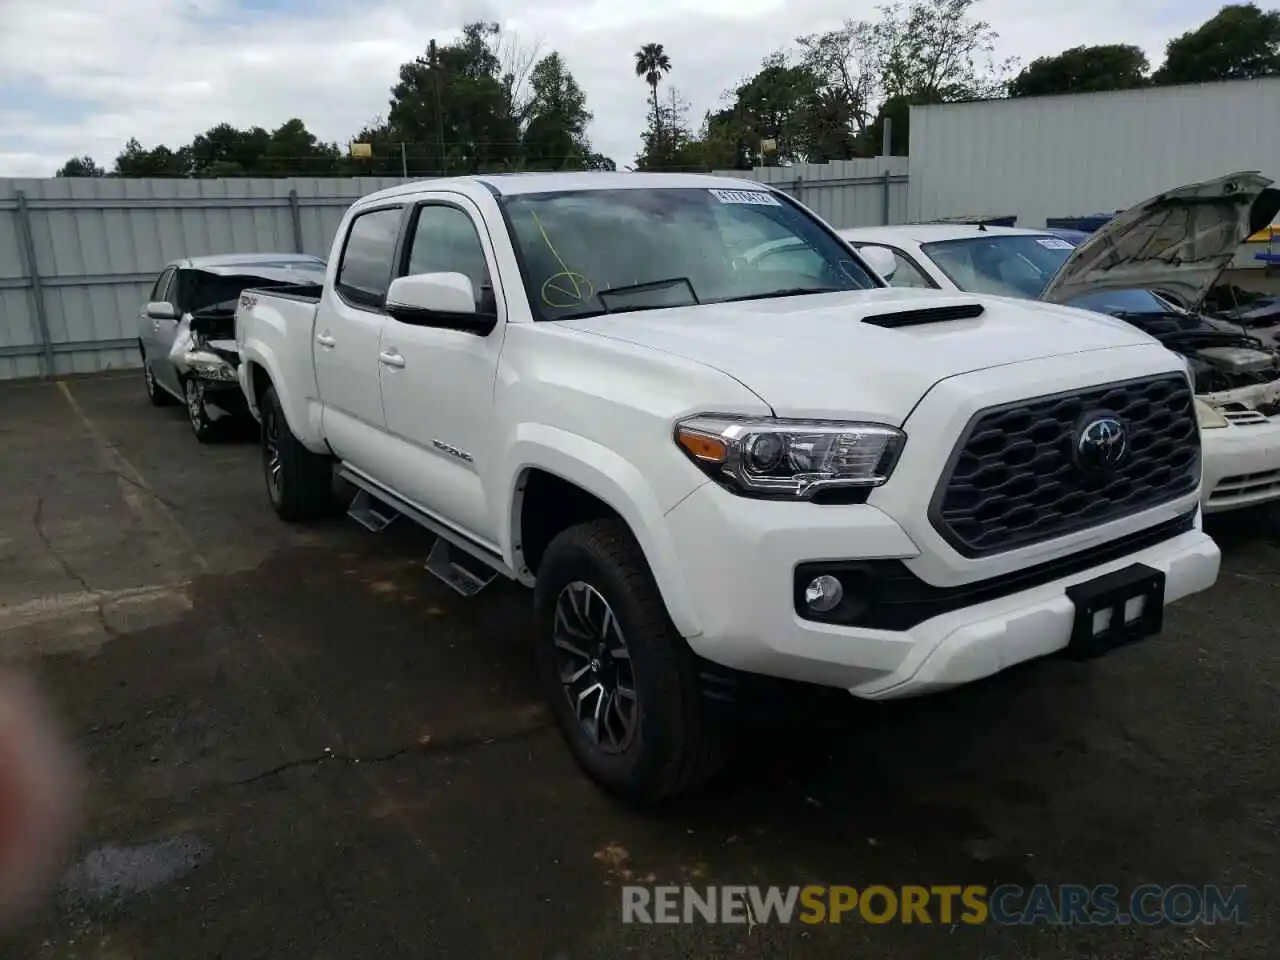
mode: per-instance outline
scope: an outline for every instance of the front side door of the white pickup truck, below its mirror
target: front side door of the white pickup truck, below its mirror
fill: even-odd
[[[404,236],[401,275],[465,274],[477,311],[497,314],[498,323],[477,334],[387,319],[380,355],[394,362],[381,366],[383,408],[387,430],[403,444],[397,444],[394,485],[438,520],[497,549],[484,477],[502,442],[493,429],[493,389],[506,301],[493,246],[480,210],[460,195],[415,204]]]

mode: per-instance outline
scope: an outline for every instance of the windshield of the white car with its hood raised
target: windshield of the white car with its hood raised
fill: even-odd
[[[922,243],[920,250],[968,293],[1034,300],[1074,247],[1061,237],[992,234]]]

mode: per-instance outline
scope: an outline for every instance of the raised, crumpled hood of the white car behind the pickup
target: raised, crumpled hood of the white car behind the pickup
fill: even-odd
[[[1161,193],[1108,220],[1080,243],[1041,298],[1155,289],[1196,310],[1240,244],[1280,212],[1280,191],[1256,172]]]

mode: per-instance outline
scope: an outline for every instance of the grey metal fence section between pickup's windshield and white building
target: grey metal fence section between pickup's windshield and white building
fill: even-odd
[[[773,184],[832,227],[845,229],[882,227],[906,219],[908,164],[905,156],[877,156],[716,173]]]

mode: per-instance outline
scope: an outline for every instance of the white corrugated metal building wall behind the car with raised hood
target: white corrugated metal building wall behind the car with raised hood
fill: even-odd
[[[910,220],[1114,212],[1236,170],[1280,180],[1280,77],[911,108]]]

